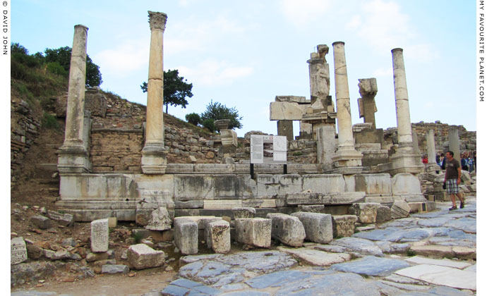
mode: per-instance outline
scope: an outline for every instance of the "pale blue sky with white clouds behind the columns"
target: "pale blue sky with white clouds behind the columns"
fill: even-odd
[[[250,130],[277,134],[269,120],[276,95],[310,98],[308,60],[318,44],[330,54],[345,42],[351,116],[359,118],[358,80],[377,78],[378,128],[397,125],[391,49],[404,49],[411,122],[476,130],[475,2],[423,0],[45,1],[12,3],[11,41],[30,54],[73,44],[73,27],[88,30],[88,54],[100,66],[103,90],[145,104],[150,47],[148,11],[167,13],[164,70],[193,83],[184,119],[210,100],[235,107]],[[295,135],[299,132],[295,125]]]

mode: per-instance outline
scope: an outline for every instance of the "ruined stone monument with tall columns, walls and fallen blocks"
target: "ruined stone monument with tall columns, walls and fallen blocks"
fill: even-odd
[[[226,121],[217,122],[220,137],[188,137],[187,147],[165,142],[176,137],[176,132],[164,128],[162,113],[166,21],[164,13],[149,12],[146,121],[116,132],[92,123],[92,113],[85,108],[88,28],[75,26],[56,205],[75,221],[92,222],[92,252],[107,249],[107,218],[135,221],[163,233],[173,228],[179,250],[196,254],[198,233],[217,253],[229,252],[231,236],[255,247],[269,247],[271,238],[301,246],[305,239],[326,243],[333,237],[350,236],[357,221],[382,222],[407,216],[411,207],[416,211],[435,208],[435,192],[440,193],[435,189],[436,177],[428,177],[433,183],[426,195],[433,195],[430,200],[421,187],[423,178],[419,178],[424,166],[414,144],[402,49],[392,49],[397,133],[375,127],[375,78],[359,79],[358,102],[364,123],[352,126],[344,42],[332,44],[335,110],[325,58],[329,47],[320,44],[307,61],[310,99],[286,95],[270,103],[270,120],[277,121],[278,135],[287,139],[286,170],[283,173],[281,164],[255,164],[251,174],[250,148],[238,148],[239,139]],[[90,92],[87,94],[92,95]],[[102,98],[90,102],[102,117],[107,113]],[[292,121],[300,124],[297,140]],[[455,132],[449,135],[455,137]],[[458,133],[456,138],[457,142],[450,141],[450,149],[459,149]],[[123,149],[104,149],[107,141],[119,141],[116,143]],[[430,159],[437,152],[434,142],[435,132],[428,132]],[[169,154],[177,150],[182,155],[185,149],[189,163],[168,161]],[[200,155],[217,161],[198,164],[196,156]],[[112,157],[115,161],[107,161]],[[438,171],[433,165],[428,172]],[[149,251],[133,247],[130,252],[137,257]],[[136,261],[132,265],[143,266]]]

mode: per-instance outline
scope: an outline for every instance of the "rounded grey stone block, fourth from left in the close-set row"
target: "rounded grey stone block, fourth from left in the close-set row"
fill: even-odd
[[[301,247],[303,245],[306,232],[299,218],[279,213],[269,213],[267,218],[272,221],[272,238],[293,247]]]

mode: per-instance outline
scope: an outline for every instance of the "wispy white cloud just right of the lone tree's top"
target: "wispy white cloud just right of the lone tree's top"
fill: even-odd
[[[206,60],[194,68],[176,67],[179,73],[196,85],[230,85],[234,80],[253,73],[252,67],[234,66],[225,61]]]

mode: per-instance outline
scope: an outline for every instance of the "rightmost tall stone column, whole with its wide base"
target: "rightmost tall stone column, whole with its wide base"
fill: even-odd
[[[421,155],[414,151],[411,118],[409,116],[409,96],[407,94],[406,70],[402,49],[392,49],[394,72],[394,93],[396,101],[397,138],[399,149],[391,157],[392,174],[421,173]]]

